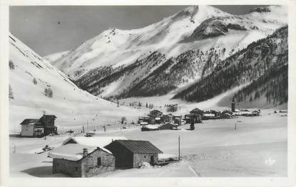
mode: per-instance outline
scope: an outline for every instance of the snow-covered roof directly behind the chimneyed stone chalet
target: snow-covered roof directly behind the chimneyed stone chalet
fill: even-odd
[[[63,141],[62,145],[74,143],[74,144],[81,144],[83,146],[95,146],[95,147],[100,147],[103,151],[106,151],[109,154],[111,154],[111,152],[108,149],[105,149],[104,146],[118,139],[126,140],[127,138],[126,137],[71,137]]]

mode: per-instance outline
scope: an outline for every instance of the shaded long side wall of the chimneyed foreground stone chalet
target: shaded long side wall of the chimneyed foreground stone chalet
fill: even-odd
[[[81,177],[81,160],[53,159],[53,173],[64,173],[72,177]]]

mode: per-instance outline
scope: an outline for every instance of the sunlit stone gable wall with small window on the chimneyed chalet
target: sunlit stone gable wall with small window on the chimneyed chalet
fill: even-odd
[[[98,157],[101,157],[101,166],[98,166]],[[115,157],[101,149],[88,154],[81,160],[81,163],[82,177],[96,176],[115,169]]]

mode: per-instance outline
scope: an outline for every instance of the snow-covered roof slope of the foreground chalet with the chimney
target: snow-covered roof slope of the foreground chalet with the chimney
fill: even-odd
[[[83,149],[88,149],[88,154],[97,149],[96,146],[83,146],[81,144],[66,144],[59,146],[49,152],[49,157],[53,159],[66,159],[78,161],[83,158]]]

